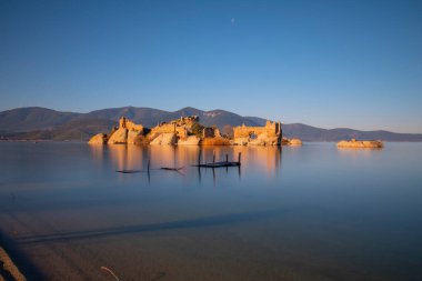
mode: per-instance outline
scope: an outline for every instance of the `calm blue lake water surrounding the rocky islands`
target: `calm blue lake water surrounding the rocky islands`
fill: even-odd
[[[2,243],[33,280],[422,280],[422,143],[0,142]],[[151,171],[122,174],[119,169]],[[160,167],[184,167],[180,172]]]

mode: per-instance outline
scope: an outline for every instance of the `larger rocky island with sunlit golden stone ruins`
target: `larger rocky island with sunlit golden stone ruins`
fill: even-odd
[[[160,122],[154,128],[137,124],[125,117],[110,133],[99,133],[90,144],[151,144],[151,145],[301,145],[299,139],[282,137],[281,122],[267,121],[263,127],[245,124],[233,128],[231,136],[221,134],[213,127],[204,127],[197,116]]]

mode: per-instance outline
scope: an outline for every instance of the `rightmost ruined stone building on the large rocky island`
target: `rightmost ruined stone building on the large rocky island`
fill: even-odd
[[[271,121],[267,121],[264,127],[238,126],[233,133],[233,143],[241,145],[280,145],[282,138],[281,123]]]

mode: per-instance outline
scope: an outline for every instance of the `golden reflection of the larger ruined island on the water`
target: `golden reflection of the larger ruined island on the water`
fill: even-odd
[[[114,171],[139,170],[142,173],[148,173],[149,182],[151,177],[155,177],[150,173],[157,173],[161,168],[174,168],[181,169],[179,173],[189,175],[190,179],[198,177],[199,182],[202,181],[204,174],[211,173],[214,185],[217,179],[223,172],[225,174],[237,174],[239,178],[242,172],[263,172],[268,178],[278,175],[282,160],[282,148],[277,147],[139,147],[114,144],[91,145],[90,151],[96,165]],[[237,162],[240,153],[240,167],[215,169],[194,167],[199,161],[201,163],[212,163],[213,158],[215,162],[227,160]],[[148,169],[148,163],[150,163],[150,170]],[[121,174],[120,177],[128,175]]]

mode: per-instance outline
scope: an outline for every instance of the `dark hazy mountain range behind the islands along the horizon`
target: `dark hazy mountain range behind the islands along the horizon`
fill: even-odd
[[[18,108],[0,112],[0,138],[12,140],[88,140],[96,133],[108,132],[118,124],[120,117],[127,117],[145,127],[180,117],[198,116],[204,126],[222,129],[229,126],[264,126],[267,120],[259,117],[241,117],[225,110],[203,111],[183,108],[164,111],[152,108],[110,108],[88,113],[61,112],[46,108]],[[380,139],[384,141],[422,141],[421,133],[395,133],[390,131],[359,131],[348,128],[321,129],[302,123],[283,124],[283,136],[303,141],[339,141],[355,139]]]

